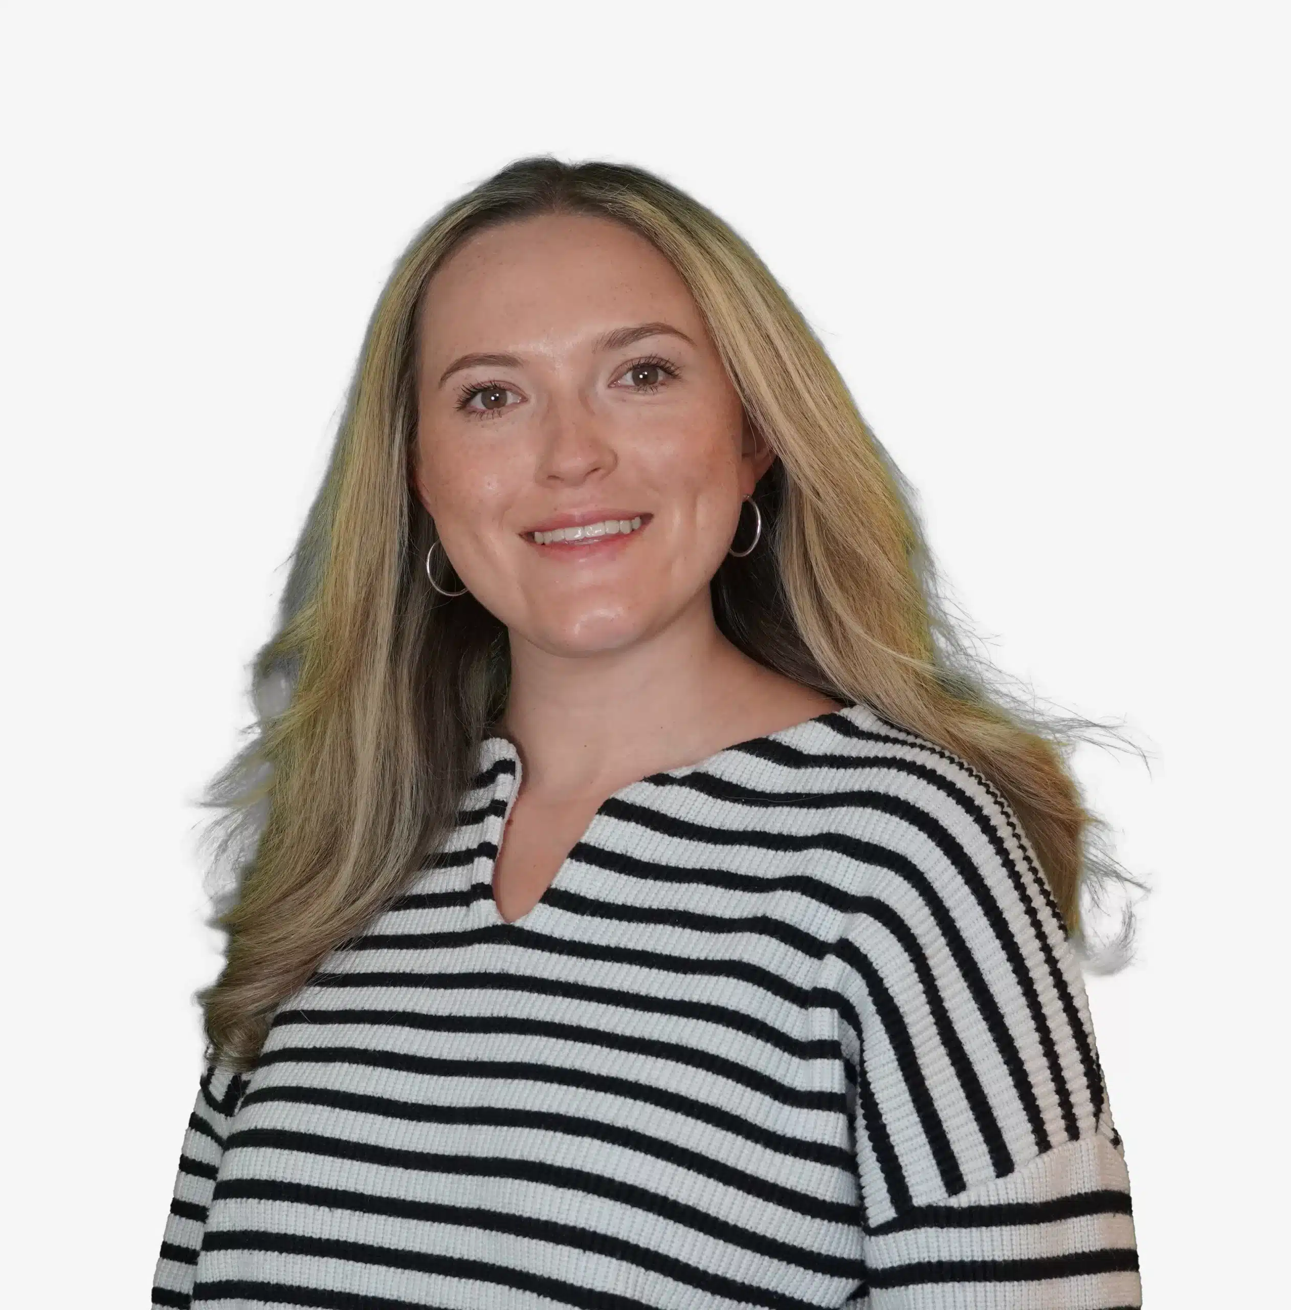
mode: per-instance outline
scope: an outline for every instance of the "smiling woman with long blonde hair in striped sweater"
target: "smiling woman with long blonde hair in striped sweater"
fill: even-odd
[[[153,1305],[1138,1305],[1091,816],[930,578],[707,210],[538,159],[440,214],[213,789]]]

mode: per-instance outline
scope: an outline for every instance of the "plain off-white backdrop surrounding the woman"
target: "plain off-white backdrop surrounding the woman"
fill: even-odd
[[[203,786],[250,722],[391,263],[529,153],[762,254],[991,659],[1151,879],[1091,977],[1146,1303],[1284,1289],[1281,5],[7,9],[5,1298],[148,1288],[219,968]]]

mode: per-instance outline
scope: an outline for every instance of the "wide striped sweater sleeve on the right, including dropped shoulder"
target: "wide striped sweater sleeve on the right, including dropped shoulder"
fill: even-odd
[[[822,972],[854,1096],[864,1282],[847,1305],[1140,1306],[1079,960],[1016,816],[941,752],[879,810]]]

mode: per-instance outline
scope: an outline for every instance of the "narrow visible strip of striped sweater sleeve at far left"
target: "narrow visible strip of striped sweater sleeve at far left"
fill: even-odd
[[[179,1154],[170,1214],[153,1275],[152,1305],[187,1310],[206,1230],[207,1209],[224,1155],[229,1121],[242,1095],[241,1074],[208,1064],[198,1083],[198,1096]]]

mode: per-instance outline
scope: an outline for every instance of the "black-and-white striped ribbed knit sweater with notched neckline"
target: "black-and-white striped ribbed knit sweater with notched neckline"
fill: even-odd
[[[634,782],[515,924],[520,785],[209,1068],[153,1306],[1140,1305],[1084,985],[958,757],[863,705]]]

